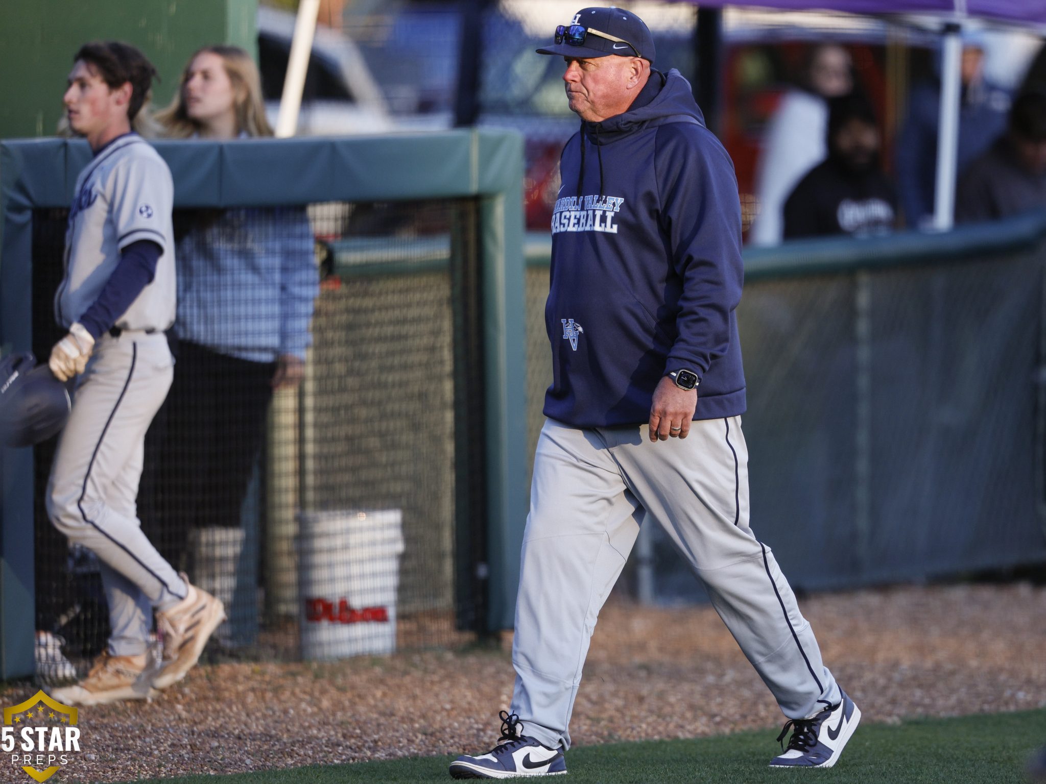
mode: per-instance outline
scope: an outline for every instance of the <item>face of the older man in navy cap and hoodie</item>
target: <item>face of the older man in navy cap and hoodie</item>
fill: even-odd
[[[570,111],[587,122],[600,122],[627,111],[650,75],[639,57],[564,57],[563,73]]]

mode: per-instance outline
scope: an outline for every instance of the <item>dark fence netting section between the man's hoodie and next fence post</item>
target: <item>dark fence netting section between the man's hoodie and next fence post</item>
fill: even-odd
[[[843,275],[748,284],[737,309],[751,525],[782,569],[802,566],[786,571],[800,587],[814,564],[855,574],[854,319],[855,281]]]

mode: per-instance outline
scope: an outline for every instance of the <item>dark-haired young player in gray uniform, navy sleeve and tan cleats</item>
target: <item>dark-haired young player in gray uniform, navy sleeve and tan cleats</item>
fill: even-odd
[[[166,164],[131,133],[155,70],[133,46],[76,52],[64,102],[94,153],[76,181],[65,276],[54,313],[68,333],[51,350],[60,381],[75,379],[69,422],[47,487],[47,512],[101,564],[112,636],[87,677],[53,692],[67,705],[147,697],[185,675],[225,617],[141,532],[136,513],[145,431],[167,394],[174,362],[174,184]],[[149,662],[153,610],[162,658]]]

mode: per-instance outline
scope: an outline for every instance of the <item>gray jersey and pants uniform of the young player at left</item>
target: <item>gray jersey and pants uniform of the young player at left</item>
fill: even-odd
[[[147,239],[162,249],[156,275],[104,332],[76,378],[69,421],[59,439],[47,511],[73,544],[95,553],[109,604],[109,652],[147,647],[152,609],[166,609],[187,589],[141,531],[136,498],[145,432],[174,377],[163,330],[175,319],[175,241],[170,170],[139,136],[104,147],[76,181],[66,232],[65,278],[55,318],[68,327],[94,304],[120,251]]]

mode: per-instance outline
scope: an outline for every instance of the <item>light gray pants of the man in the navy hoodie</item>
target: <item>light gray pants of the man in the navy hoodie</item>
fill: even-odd
[[[810,623],[748,525],[741,417],[653,443],[647,425],[579,430],[548,419],[538,441],[516,605],[511,710],[523,734],[570,747],[568,725],[596,618],[639,526],[656,522],[789,718],[840,699]]]

